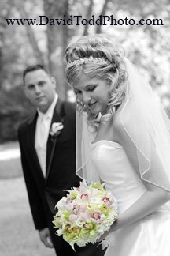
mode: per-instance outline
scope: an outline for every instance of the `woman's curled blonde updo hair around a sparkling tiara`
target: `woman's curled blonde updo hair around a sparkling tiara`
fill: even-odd
[[[71,42],[65,51],[66,78],[70,85],[76,85],[82,74],[109,82],[110,99],[108,112],[113,113],[124,100],[127,72],[124,64],[124,49],[106,36],[83,36]],[[78,101],[78,111],[87,111],[88,121],[95,115]]]

